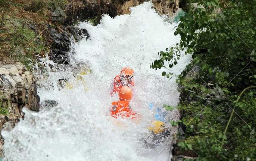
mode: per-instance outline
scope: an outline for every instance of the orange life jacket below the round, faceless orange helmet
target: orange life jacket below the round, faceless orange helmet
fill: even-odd
[[[117,101],[117,102],[112,102],[112,107],[111,107],[111,116],[113,116],[114,118],[117,118],[118,116],[122,116],[122,118],[124,117],[130,117],[132,116],[132,118],[135,118],[135,114],[132,109],[131,106],[129,104],[129,101]]]

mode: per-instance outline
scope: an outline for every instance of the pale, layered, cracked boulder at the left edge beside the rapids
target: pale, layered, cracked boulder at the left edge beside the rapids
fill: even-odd
[[[33,76],[21,63],[0,66],[0,132],[24,117],[23,107],[39,111],[39,96]],[[0,143],[3,138],[0,136]],[[1,151],[1,144],[0,144]],[[0,154],[1,155],[1,154]]]

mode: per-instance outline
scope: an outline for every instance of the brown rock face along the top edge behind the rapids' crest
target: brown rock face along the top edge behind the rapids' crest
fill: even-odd
[[[130,7],[137,6],[149,0],[84,0],[77,11],[70,7],[67,11],[67,24],[73,24],[77,20],[84,21],[88,18],[98,16],[100,19],[102,14],[108,14],[111,17],[129,14]],[[179,7],[180,0],[152,0],[155,9],[160,14],[169,14],[170,16],[176,12]]]

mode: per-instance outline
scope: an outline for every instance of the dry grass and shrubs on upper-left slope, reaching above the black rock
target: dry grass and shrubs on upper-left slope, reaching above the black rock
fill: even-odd
[[[36,55],[43,56],[51,51],[52,28],[62,33],[64,27],[76,23],[73,16],[83,4],[81,1],[71,2],[1,0],[0,64],[19,61],[31,69],[38,58]]]

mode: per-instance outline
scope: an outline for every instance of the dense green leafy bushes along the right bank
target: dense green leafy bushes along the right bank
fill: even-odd
[[[255,0],[198,1],[180,18],[180,43],[159,52],[151,65],[168,71],[180,51],[193,54],[177,80],[186,134],[178,145],[195,151],[197,160],[256,160],[255,10]]]

